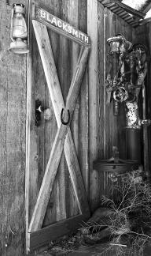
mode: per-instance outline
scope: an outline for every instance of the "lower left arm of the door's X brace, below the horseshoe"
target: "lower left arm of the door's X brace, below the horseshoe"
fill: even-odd
[[[53,149],[50,153],[45,175],[42,180],[42,186],[39,191],[39,196],[35,204],[34,213],[31,217],[28,232],[34,232],[41,228],[42,222],[46,213],[46,207],[50,199],[50,194],[53,189],[54,179],[57,174],[57,168],[61,160],[62,150],[64,148],[65,134],[67,134],[68,126],[61,125],[57,130]]]

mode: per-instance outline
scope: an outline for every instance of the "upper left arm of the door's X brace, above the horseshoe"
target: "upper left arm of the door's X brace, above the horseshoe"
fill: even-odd
[[[54,114],[57,120],[57,126],[61,126],[61,110],[64,108],[64,100],[61,92],[61,86],[57,77],[57,69],[53,59],[53,51],[50,45],[50,38],[46,25],[38,21],[32,21],[35,37],[39,47],[39,53],[42,59],[42,66],[46,76],[47,85],[53,105]]]

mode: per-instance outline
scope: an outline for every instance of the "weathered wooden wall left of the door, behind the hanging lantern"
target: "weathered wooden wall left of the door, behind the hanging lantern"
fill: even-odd
[[[12,5],[13,1],[0,2],[0,255],[2,256],[24,255],[26,55],[13,55],[9,52]]]

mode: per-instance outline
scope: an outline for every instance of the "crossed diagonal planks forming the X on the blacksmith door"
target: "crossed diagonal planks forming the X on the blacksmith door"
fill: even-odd
[[[52,101],[53,101],[54,107],[55,107],[54,111],[57,111],[58,106],[60,107],[60,104],[61,104],[61,102],[58,101],[58,98],[61,99],[61,91],[60,91],[60,95],[57,94],[57,98],[56,98],[55,88],[57,87],[57,92],[58,92],[60,85],[58,82],[57,70],[55,68],[51,47],[48,47],[48,48],[46,47],[47,43],[50,44],[50,40],[49,40],[49,38],[46,39],[46,37],[45,37],[45,36],[48,36],[47,31],[46,31],[46,26],[39,24],[39,22],[37,22],[37,21],[33,21],[33,25],[35,28],[35,35],[36,35],[37,42],[39,45],[39,51],[40,51],[40,55],[42,58],[42,64],[44,64],[43,67],[44,67],[44,71],[46,74],[47,83],[49,84],[50,96],[52,97]],[[45,30],[43,27],[45,28]],[[45,35],[45,36],[43,36],[43,35]],[[43,36],[44,40],[42,39],[42,36]],[[68,99],[67,99],[67,107],[68,108],[67,107],[66,108],[71,111],[71,116],[72,116],[74,108],[75,108],[75,102],[76,102],[76,99],[77,99],[77,96],[79,93],[79,88],[80,88],[80,84],[82,81],[83,73],[84,73],[84,70],[87,65],[88,51],[89,51],[88,48],[85,48],[85,50],[83,51],[83,55],[80,55],[80,57],[79,57],[79,62],[76,66],[75,73],[74,73],[74,76],[72,79],[71,88],[68,93]],[[49,55],[48,55],[48,53],[49,53]],[[52,65],[52,62],[53,62],[53,65]],[[50,67],[50,70],[52,71],[53,75],[52,75],[52,73],[50,73],[50,70],[49,71],[46,70],[47,67]],[[48,78],[50,78],[50,76],[54,77],[53,83],[51,83],[51,84],[50,84],[50,80],[48,79]],[[57,83],[56,83],[56,81],[57,81]],[[58,103],[58,105],[56,105],[56,103]],[[63,105],[63,103],[62,103],[62,105]],[[58,115],[56,115],[56,119],[58,119]],[[59,119],[59,121],[60,121],[60,119]],[[64,134],[66,134],[66,132],[67,132],[67,130],[65,130],[66,128],[67,128],[66,126],[64,128],[64,126],[61,125],[57,132],[57,137],[53,144],[53,149],[52,149],[52,152],[50,155],[50,160],[49,160],[49,163],[46,168],[46,173],[44,175],[41,190],[39,192],[39,197],[38,197],[37,203],[35,205],[35,210],[34,210],[33,216],[31,218],[31,224],[29,227],[30,232],[37,230],[42,225],[43,217],[46,213],[46,205],[50,198],[50,193],[52,190],[53,182],[55,179],[55,175],[57,173],[57,167],[59,164],[59,160],[61,158],[62,146],[64,145]],[[63,137],[62,141],[61,141],[61,137],[58,137],[59,134],[61,134],[61,136]],[[87,204],[87,195],[86,195],[85,188],[83,186],[83,179],[81,177],[78,160],[77,160],[77,156],[75,153],[75,146],[72,141],[71,132],[68,133],[68,137],[69,137],[69,140],[67,140],[67,143],[65,143],[65,145],[66,145],[67,149],[69,150],[69,152],[72,152],[72,153],[68,154],[68,156],[67,156],[67,153],[65,155],[66,155],[67,162],[68,162],[68,168],[71,173],[73,187],[75,190],[75,197],[77,198],[80,212],[81,213],[86,212],[86,215],[88,216],[90,213],[89,213],[89,207]],[[70,143],[68,143],[68,141]],[[71,144],[72,144],[72,148],[71,148]],[[58,145],[59,145],[60,149],[58,149]],[[58,153],[57,153],[57,151],[58,151]],[[73,157],[75,159],[73,159]],[[55,160],[53,160],[53,158],[57,159],[57,160],[55,161]],[[74,168],[73,168],[73,163],[76,163]],[[51,167],[51,170],[50,170],[50,167]]]

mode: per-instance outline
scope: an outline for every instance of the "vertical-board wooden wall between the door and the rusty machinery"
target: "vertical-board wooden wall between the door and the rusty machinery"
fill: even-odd
[[[113,105],[106,105],[105,78],[108,67],[109,37],[123,34],[127,40],[135,39],[134,28],[97,0],[88,0],[87,32],[92,40],[89,59],[89,159],[90,206],[100,204],[103,180],[101,173],[93,170],[93,161],[109,159],[112,146],[117,145],[120,158],[126,159],[125,111],[120,104],[120,115],[113,115]]]

